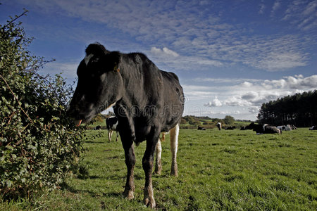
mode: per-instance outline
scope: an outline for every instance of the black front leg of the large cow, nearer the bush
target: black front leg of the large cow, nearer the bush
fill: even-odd
[[[125,150],[125,164],[127,165],[127,182],[125,183],[125,191],[123,196],[132,199],[134,198],[133,192],[135,191],[135,179],[134,179],[134,170],[135,170],[135,149],[133,147],[133,141],[125,142],[123,139],[123,148]]]

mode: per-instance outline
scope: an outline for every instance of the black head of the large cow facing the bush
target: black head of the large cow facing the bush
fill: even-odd
[[[89,122],[113,106],[122,96],[120,53],[107,51],[101,44],[89,44],[77,68],[78,82],[68,114],[75,124]]]

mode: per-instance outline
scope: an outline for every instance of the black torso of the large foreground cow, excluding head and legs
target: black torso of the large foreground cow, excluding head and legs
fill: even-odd
[[[123,101],[133,108],[130,115],[137,139],[144,139],[150,125],[159,122],[161,131],[167,132],[180,122],[184,95],[174,73],[159,70],[143,53],[123,53],[120,72],[126,91]]]

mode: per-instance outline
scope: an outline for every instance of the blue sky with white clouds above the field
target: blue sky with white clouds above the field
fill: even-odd
[[[317,0],[2,0],[0,24],[20,21],[29,50],[68,82],[89,43],[143,52],[175,72],[184,115],[256,120],[261,104],[317,89]]]

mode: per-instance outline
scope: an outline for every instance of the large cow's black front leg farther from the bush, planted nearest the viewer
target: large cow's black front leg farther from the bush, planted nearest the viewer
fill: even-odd
[[[144,205],[151,208],[156,206],[154,200],[153,186],[152,186],[152,170],[154,162],[154,152],[156,143],[159,141],[159,134],[153,137],[153,139],[147,139],[147,150],[144,153],[142,159],[142,167],[145,173],[145,185],[144,185]]]

